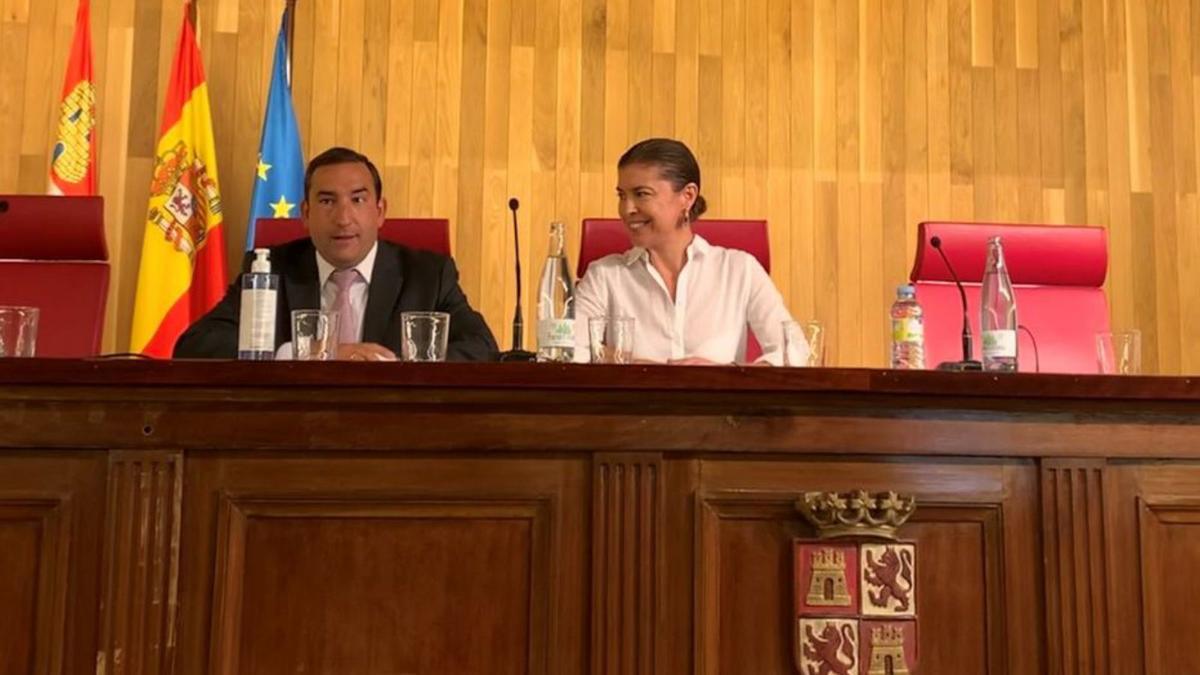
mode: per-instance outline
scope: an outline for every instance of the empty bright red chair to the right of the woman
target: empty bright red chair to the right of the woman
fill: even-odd
[[[942,250],[966,286],[972,358],[979,359],[979,282],[988,239],[997,235],[1016,293],[1016,321],[1037,341],[1040,371],[1096,372],[1096,334],[1109,330],[1109,303],[1102,288],[1109,264],[1108,232],[1057,225],[920,223],[910,277],[925,310],[926,365],[962,358],[961,300],[930,239],[941,238]],[[1019,368],[1033,372],[1030,335],[1021,330],[1018,338]]]

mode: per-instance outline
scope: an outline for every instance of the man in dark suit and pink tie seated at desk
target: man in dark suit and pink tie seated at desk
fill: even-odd
[[[280,275],[276,348],[290,340],[292,310],[336,307],[337,358],[391,360],[402,311],[443,311],[450,315],[448,359],[494,359],[496,339],[467,303],[454,261],[378,240],[386,213],[382,183],[371,160],[347,148],[308,162],[300,204],[308,239],[271,249],[271,271]],[[236,358],[240,310],[239,279],[179,338],[174,356]]]

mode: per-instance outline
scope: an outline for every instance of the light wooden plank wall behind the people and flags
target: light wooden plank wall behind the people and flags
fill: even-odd
[[[41,191],[76,0],[0,2],[0,192]],[[446,216],[463,286],[508,346],[551,220],[611,215],[614,162],[671,135],[714,217],[766,217],[773,276],[882,365],[923,219],[1110,229],[1114,324],[1196,372],[1200,253],[1190,0],[298,0],[306,155],[371,154],[395,215]],[[283,0],[198,0],[230,268],[240,258]],[[101,191],[127,346],[143,211],[181,2],[92,0]],[[43,85],[43,78],[49,78]],[[527,323],[533,336],[532,322]]]

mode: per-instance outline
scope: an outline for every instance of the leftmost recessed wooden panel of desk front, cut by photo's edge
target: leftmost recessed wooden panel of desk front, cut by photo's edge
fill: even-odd
[[[0,674],[62,671],[71,502],[0,491]]]

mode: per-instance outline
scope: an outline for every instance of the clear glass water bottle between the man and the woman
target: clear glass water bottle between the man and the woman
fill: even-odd
[[[538,360],[575,360],[575,282],[566,264],[566,234],[562,222],[550,223],[550,255],[538,287]]]

